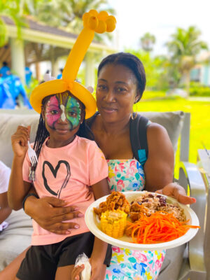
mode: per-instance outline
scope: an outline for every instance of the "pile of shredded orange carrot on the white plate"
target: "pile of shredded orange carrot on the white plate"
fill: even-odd
[[[180,222],[165,211],[157,211],[151,216],[141,214],[138,221],[127,222],[127,230],[132,229],[132,239],[138,244],[155,244],[174,240],[185,235],[190,228],[200,228],[188,225],[188,221]]]

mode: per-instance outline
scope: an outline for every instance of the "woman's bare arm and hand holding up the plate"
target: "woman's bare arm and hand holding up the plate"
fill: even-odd
[[[144,165],[146,190],[175,197],[183,204],[195,203],[183,187],[173,183],[174,150],[164,127],[152,123],[147,130],[148,160]]]

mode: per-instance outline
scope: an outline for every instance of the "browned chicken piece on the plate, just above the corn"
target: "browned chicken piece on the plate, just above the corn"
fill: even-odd
[[[107,210],[121,210],[128,214],[130,212],[130,203],[126,200],[123,193],[113,192],[106,198],[106,202],[99,204],[99,208],[94,208],[94,212],[99,216],[99,219],[101,218],[102,213]]]

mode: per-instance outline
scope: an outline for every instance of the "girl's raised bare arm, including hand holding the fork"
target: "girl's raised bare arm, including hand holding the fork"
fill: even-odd
[[[30,183],[22,179],[22,165],[28,149],[29,134],[30,127],[19,126],[11,137],[14,158],[8,186],[8,204],[14,210],[22,208],[22,200],[30,188]]]

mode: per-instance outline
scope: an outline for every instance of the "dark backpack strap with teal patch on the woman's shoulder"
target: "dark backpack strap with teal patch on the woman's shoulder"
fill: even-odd
[[[146,130],[148,118],[141,116],[139,113],[134,120],[130,120],[130,142],[134,158],[144,166],[148,158],[148,144]]]

